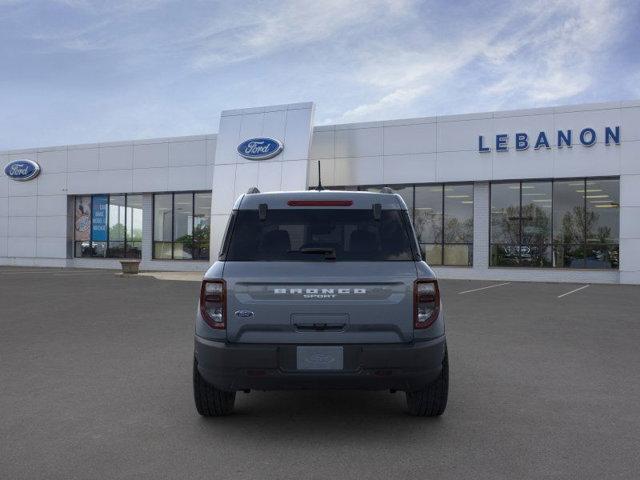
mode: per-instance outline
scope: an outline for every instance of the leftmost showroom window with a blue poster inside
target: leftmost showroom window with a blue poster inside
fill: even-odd
[[[75,197],[76,257],[140,258],[142,195]]]

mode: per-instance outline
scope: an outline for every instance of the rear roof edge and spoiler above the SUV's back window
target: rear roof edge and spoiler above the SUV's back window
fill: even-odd
[[[404,200],[397,193],[353,192],[342,190],[302,190],[294,192],[247,193],[233,206],[234,210],[257,210],[261,203],[268,208],[300,208],[287,204],[290,200],[351,200],[350,208],[372,208],[379,203],[384,210],[407,210]],[[344,206],[307,206],[304,208],[345,208]]]

